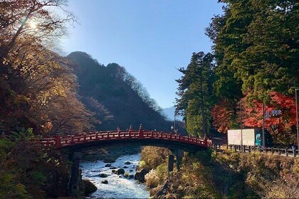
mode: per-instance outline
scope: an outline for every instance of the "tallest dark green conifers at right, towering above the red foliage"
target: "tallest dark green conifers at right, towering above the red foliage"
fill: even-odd
[[[299,4],[293,0],[221,2],[226,4],[224,14],[214,16],[206,35],[214,42],[216,60],[218,102],[212,114],[223,131],[240,122],[237,109],[243,96],[241,103],[248,109],[254,102],[271,104],[273,92],[293,96],[299,85]],[[288,128],[280,134],[283,131],[290,133]]]

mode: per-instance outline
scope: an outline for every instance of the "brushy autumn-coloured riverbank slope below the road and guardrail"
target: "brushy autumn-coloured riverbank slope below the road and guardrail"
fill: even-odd
[[[151,166],[150,157],[157,151],[145,150],[142,161]],[[164,149],[159,150],[163,154]],[[168,177],[161,169],[165,160],[160,163],[146,176],[154,198],[299,198],[299,158],[259,152],[185,153],[181,170]]]

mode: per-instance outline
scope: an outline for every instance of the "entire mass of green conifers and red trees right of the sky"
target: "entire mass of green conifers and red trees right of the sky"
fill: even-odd
[[[220,2],[224,3],[224,14],[214,16],[206,28],[206,35],[214,43],[215,64],[206,68],[211,72],[206,74],[206,80],[201,80],[202,65],[194,65],[196,53],[186,69],[179,69],[183,76],[178,80],[177,111],[186,117],[187,131],[206,134],[205,127],[211,127],[210,130],[215,127],[226,132],[239,129],[240,125],[261,128],[264,104],[265,112],[280,110],[275,119],[266,119],[266,127],[276,143],[295,142],[294,98],[295,88],[299,86],[298,1]],[[191,80],[197,82],[192,84]],[[204,93],[204,87],[212,91],[206,89]],[[192,107],[192,104],[196,105]]]

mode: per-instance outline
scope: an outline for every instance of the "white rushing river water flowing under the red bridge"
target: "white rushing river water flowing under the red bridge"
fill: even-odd
[[[126,161],[130,161],[131,164],[126,165]],[[140,154],[120,156],[115,163],[111,163],[110,167],[116,167],[117,171],[118,168],[127,166],[124,168],[125,172],[134,175],[139,161]],[[144,184],[138,183],[132,178],[125,178],[123,175],[117,176],[112,173],[110,167],[105,167],[105,164],[107,163],[103,161],[80,163],[83,179],[90,180],[98,188],[87,198],[150,198],[150,193]],[[100,178],[100,173],[107,174],[107,178]],[[101,183],[105,180],[108,181],[108,184]]]

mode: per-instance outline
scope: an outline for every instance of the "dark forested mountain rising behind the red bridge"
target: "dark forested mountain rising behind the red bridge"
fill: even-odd
[[[107,66],[83,52],[73,52],[68,59],[75,63],[82,102],[101,121],[98,130],[145,129],[169,131],[172,122],[165,121],[162,109],[150,98],[145,87],[116,63]]]

